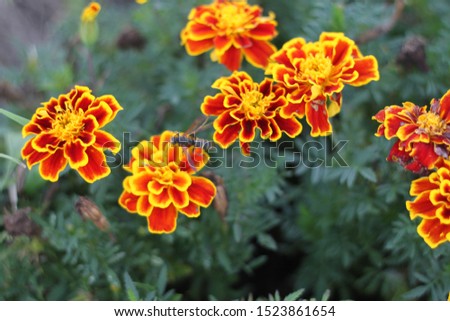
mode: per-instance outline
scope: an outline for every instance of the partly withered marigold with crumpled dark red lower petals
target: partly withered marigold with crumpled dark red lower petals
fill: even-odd
[[[411,102],[388,106],[372,117],[380,124],[376,136],[394,137],[387,158],[415,173],[432,169],[439,158],[448,158],[450,151],[450,90],[433,99],[430,109]]]

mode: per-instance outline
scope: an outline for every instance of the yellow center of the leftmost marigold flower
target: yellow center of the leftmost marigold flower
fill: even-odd
[[[56,118],[53,123],[55,135],[64,141],[73,141],[83,130],[84,112],[82,109],[74,110],[70,102],[66,102],[66,109],[56,108]]]

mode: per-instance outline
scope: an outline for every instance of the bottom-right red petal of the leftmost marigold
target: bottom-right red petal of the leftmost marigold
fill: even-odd
[[[87,164],[77,168],[78,173],[86,182],[93,183],[110,174],[111,170],[106,164],[105,155],[101,151],[94,147],[88,147],[86,155],[89,159]]]

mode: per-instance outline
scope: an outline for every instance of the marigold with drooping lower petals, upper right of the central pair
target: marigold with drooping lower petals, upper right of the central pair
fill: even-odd
[[[292,103],[284,117],[303,118],[311,136],[332,132],[329,117],[340,112],[344,85],[362,86],[379,79],[374,56],[363,56],[343,33],[324,32],[319,41],[294,38],[271,56],[266,73],[284,84]]]

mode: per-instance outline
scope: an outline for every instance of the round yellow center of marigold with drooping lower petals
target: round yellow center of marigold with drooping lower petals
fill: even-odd
[[[332,67],[331,60],[322,54],[309,56],[301,64],[301,77],[322,84],[329,78]]]

